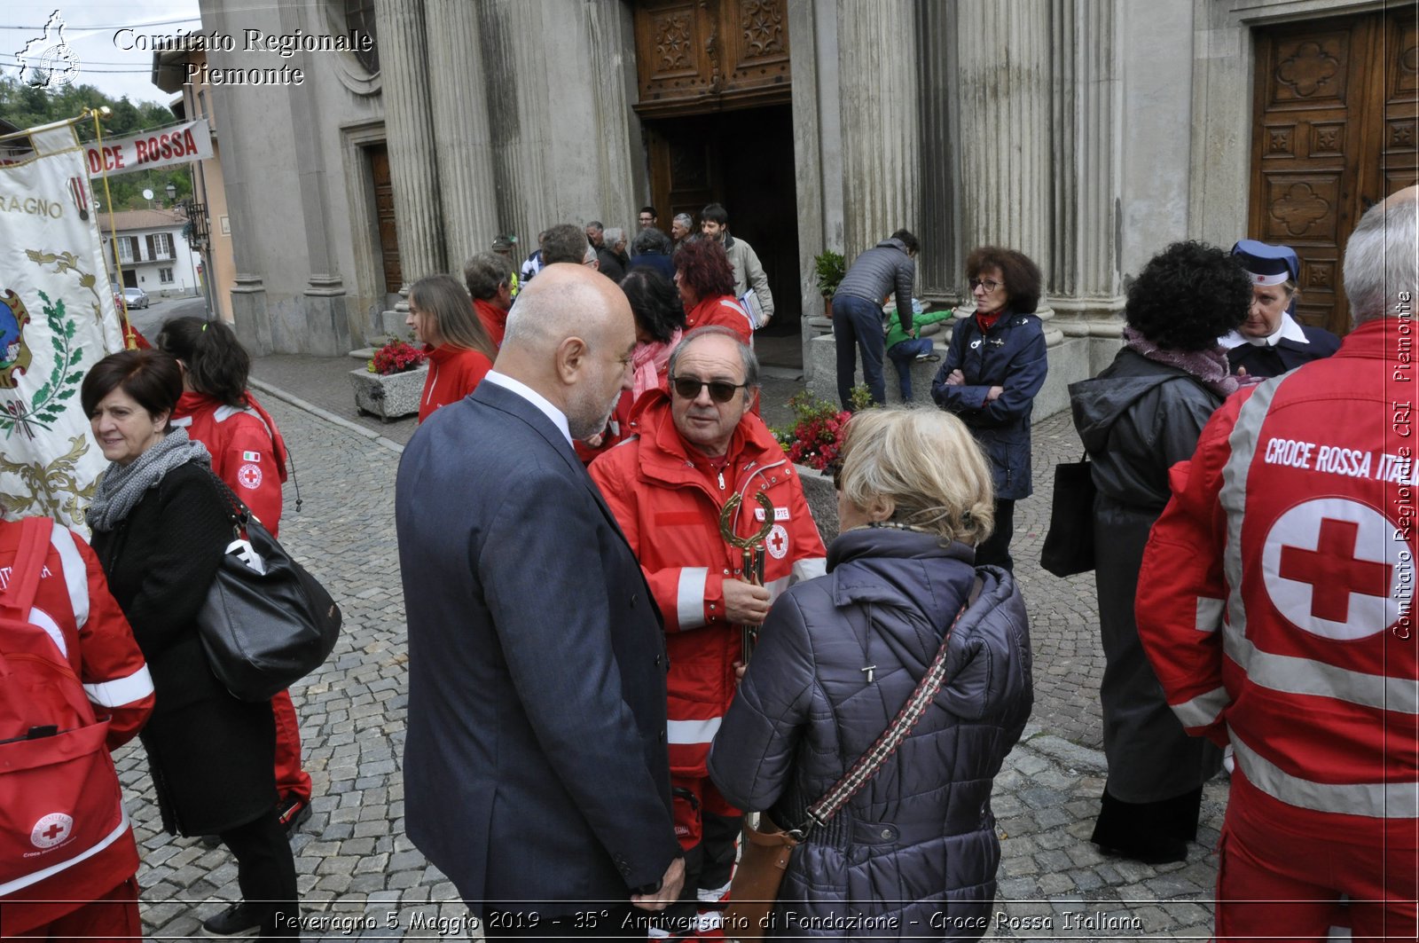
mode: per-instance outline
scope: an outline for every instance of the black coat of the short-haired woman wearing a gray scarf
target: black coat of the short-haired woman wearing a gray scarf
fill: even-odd
[[[140,734],[163,827],[206,835],[275,807],[271,704],[233,697],[207,667],[197,611],[231,541],[226,497],[189,462],[133,506],[94,551],[153,676],[153,716]]]

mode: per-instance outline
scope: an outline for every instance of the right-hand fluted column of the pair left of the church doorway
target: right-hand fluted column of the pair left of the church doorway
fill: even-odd
[[[499,226],[478,7],[468,0],[424,0],[424,36],[438,207],[448,270],[458,277],[474,253],[492,246]]]

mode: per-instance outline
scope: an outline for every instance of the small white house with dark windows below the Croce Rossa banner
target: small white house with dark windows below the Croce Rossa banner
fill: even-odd
[[[114,213],[118,231],[118,261],[122,287],[142,288],[155,298],[201,294],[199,267],[201,257],[183,239],[187,216],[180,210],[119,210]],[[114,247],[108,213],[99,216],[104,234],[104,258],[109,280],[114,278]]]

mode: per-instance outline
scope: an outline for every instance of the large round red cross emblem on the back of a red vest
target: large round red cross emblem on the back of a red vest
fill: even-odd
[[[1261,584],[1296,626],[1337,641],[1389,628],[1409,606],[1412,550],[1368,504],[1340,497],[1304,501],[1271,524]]]

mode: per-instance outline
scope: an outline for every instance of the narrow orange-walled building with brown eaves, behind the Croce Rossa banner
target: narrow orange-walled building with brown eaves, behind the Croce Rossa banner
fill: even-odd
[[[221,142],[211,109],[214,89],[206,78],[192,84],[183,81],[189,62],[199,70],[199,77],[204,77],[200,67],[206,60],[207,54],[201,50],[153,53],[153,85],[165,92],[182,92],[170,105],[177,121],[206,118],[211,132],[211,158],[193,160],[189,165],[193,196],[184,202],[182,210],[192,223],[186,230],[187,241],[199,256],[203,256],[203,280],[210,288],[210,304],[217,317],[231,321],[231,290],[237,284],[237,267],[231,256],[231,220],[227,214],[227,190],[221,179]]]

